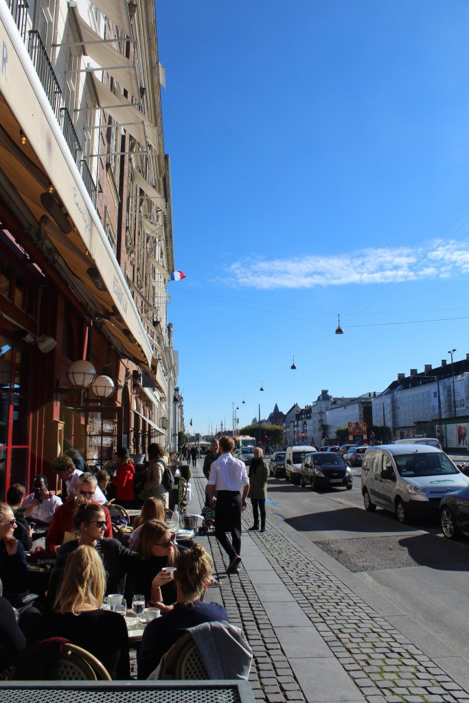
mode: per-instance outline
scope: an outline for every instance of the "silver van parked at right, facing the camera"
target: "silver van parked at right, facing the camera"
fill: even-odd
[[[428,444],[368,447],[361,465],[365,510],[392,510],[399,522],[439,509],[442,496],[469,485],[444,452]]]

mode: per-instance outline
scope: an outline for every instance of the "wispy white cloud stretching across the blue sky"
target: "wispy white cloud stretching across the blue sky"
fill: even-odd
[[[233,285],[264,290],[449,278],[469,273],[469,243],[434,240],[425,247],[383,247],[329,256],[250,257],[234,262],[228,271]]]

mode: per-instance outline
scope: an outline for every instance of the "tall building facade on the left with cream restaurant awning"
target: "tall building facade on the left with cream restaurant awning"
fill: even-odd
[[[154,3],[0,0],[0,34],[2,498],[65,439],[173,449],[178,358]]]

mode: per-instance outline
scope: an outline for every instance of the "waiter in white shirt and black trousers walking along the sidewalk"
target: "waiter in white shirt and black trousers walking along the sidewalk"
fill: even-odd
[[[215,507],[215,536],[229,556],[227,574],[239,574],[241,561],[241,515],[246,508],[249,478],[243,461],[232,456],[231,437],[219,439],[221,456],[212,463],[208,479],[210,505]],[[241,488],[243,494],[240,494]],[[217,490],[217,498],[214,498]],[[231,533],[231,540],[226,536]]]

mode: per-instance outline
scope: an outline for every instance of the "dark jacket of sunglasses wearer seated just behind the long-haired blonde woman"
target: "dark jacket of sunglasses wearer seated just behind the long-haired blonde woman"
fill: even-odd
[[[68,555],[74,552],[78,546],[78,540],[72,539],[70,542],[65,542],[58,550],[56,565],[53,567],[51,581],[49,581],[48,598],[51,606],[56,600]],[[98,543],[98,550],[101,551],[105,572],[108,575],[106,594],[122,593],[124,595],[127,572],[132,562],[138,560],[139,553],[131,552],[117,539],[102,539]]]

